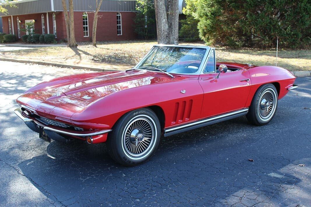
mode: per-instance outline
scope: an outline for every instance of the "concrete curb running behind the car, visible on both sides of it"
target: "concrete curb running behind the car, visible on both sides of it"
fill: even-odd
[[[77,66],[77,65],[66,65],[66,64],[55,63],[55,62],[21,60],[21,59],[15,59],[15,58],[0,58],[0,61],[32,63],[32,64],[38,64],[38,65],[48,65],[48,66],[55,66],[55,67],[65,67],[65,68],[99,71],[99,72],[120,71],[120,70],[111,69],[111,68],[84,67],[84,66]],[[311,71],[290,71],[290,73],[296,77],[309,77],[309,76],[311,76]]]

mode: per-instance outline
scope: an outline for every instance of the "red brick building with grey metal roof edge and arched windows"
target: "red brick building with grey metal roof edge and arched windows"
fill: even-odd
[[[67,2],[68,3],[68,2]],[[97,22],[97,41],[137,39],[134,31],[135,0],[104,0]],[[37,34],[55,34],[65,39],[66,26],[61,0],[17,0],[14,6],[3,5],[7,13],[0,13],[3,32],[18,39],[26,32],[26,23],[33,22]],[[68,8],[68,5],[67,5]],[[91,41],[95,0],[74,0],[74,23],[77,42]]]

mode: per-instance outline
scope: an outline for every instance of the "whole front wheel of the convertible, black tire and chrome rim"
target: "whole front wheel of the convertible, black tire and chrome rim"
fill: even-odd
[[[107,148],[110,156],[125,166],[146,162],[155,153],[160,141],[160,122],[149,108],[123,115],[109,133]]]

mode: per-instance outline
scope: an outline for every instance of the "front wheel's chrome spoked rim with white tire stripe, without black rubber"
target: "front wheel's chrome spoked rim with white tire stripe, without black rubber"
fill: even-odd
[[[147,115],[134,117],[123,131],[123,151],[132,159],[149,154],[156,137],[156,124]]]

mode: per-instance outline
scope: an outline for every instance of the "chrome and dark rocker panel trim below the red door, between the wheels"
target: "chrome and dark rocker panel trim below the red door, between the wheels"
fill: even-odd
[[[233,119],[236,117],[246,115],[247,113],[248,113],[248,108],[244,108],[241,110],[233,111],[230,113],[225,113],[225,114],[222,114],[219,116],[199,120],[196,122],[186,123],[186,124],[183,124],[183,125],[178,126],[178,127],[171,127],[171,128],[164,130],[164,137],[171,136],[171,135],[178,134],[178,133],[182,133],[184,131],[189,131],[189,130],[205,127],[205,126],[208,126],[211,124],[216,124],[218,122],[223,122],[223,121],[226,121],[229,119]]]

